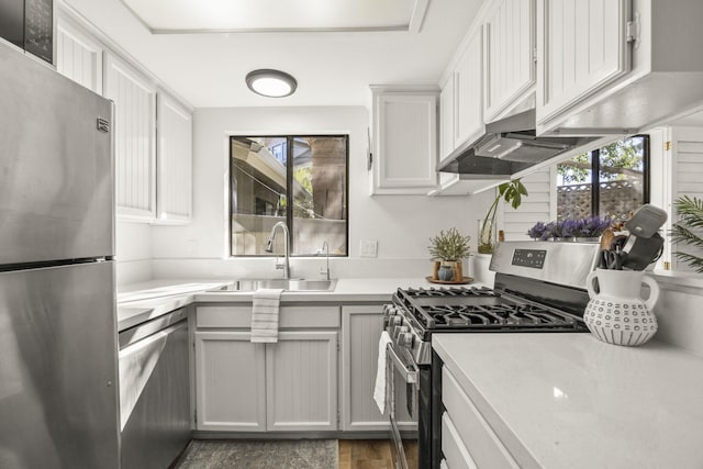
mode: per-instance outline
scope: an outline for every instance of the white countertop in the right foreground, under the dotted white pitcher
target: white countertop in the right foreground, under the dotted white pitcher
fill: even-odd
[[[523,467],[703,467],[703,359],[591,334],[435,334],[433,346]]]

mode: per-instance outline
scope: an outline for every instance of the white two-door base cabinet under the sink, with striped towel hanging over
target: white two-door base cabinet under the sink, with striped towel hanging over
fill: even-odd
[[[250,323],[250,305],[197,309],[197,429],[336,431],[338,306],[282,306],[275,344]]]

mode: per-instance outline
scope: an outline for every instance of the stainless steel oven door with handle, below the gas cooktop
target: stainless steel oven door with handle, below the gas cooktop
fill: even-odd
[[[387,350],[388,413],[397,469],[417,468],[417,399],[420,371],[405,349]],[[402,435],[401,435],[402,431]]]

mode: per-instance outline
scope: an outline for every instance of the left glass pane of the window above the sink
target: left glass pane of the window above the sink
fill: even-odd
[[[232,255],[265,252],[271,227],[286,221],[284,137],[233,137],[231,141]],[[281,253],[283,236],[276,236]]]

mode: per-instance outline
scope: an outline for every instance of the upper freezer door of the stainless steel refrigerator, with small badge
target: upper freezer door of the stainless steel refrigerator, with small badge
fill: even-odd
[[[111,256],[112,103],[0,44],[0,265]]]

